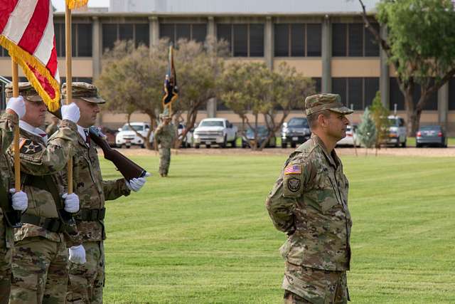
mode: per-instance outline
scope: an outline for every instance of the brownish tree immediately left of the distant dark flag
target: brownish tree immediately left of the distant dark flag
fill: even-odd
[[[114,112],[126,112],[130,123],[133,112],[149,116],[156,125],[156,109],[161,108],[163,81],[167,68],[166,41],[149,50],[146,46],[134,48],[132,41],[117,42],[102,58],[102,72],[95,84],[105,98],[107,108]],[[131,126],[131,125],[130,125]],[[134,130],[134,128],[132,128]],[[136,134],[151,148],[150,128],[146,137]]]

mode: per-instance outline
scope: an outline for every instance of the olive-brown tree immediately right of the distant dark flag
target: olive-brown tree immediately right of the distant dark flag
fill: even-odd
[[[176,140],[176,148],[180,147],[181,141],[194,127],[198,111],[207,105],[210,98],[216,97],[219,89],[217,79],[223,73],[227,54],[227,43],[213,38],[208,38],[205,44],[185,39],[177,42],[174,63],[179,93],[172,109],[173,115],[180,120],[186,115],[186,128]],[[164,81],[164,76],[161,76],[161,81]]]

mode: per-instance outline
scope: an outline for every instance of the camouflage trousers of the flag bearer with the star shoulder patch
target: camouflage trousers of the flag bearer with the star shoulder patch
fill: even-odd
[[[65,303],[68,248],[33,236],[14,244],[10,304]]]

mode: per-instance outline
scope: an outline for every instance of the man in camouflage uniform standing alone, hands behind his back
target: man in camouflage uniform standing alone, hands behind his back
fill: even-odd
[[[311,139],[289,156],[266,201],[274,226],[287,234],[284,303],[347,303],[349,184],[333,148],[353,111],[336,94],[309,96],[305,111]]]

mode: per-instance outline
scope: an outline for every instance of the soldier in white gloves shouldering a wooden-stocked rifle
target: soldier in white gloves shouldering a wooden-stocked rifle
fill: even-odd
[[[80,211],[75,219],[81,240],[73,245],[85,248],[87,262],[83,265],[70,263],[67,303],[102,303],[105,284],[105,201],[128,196],[144,186],[146,179],[102,179],[100,161],[94,144],[90,142],[89,127],[95,124],[99,105],[105,100],[90,83],[73,83],[73,101],[81,110],[77,122],[77,145],[73,156],[74,191],[80,198]],[[63,84],[63,98],[66,84]],[[146,174],[149,176],[149,174]],[[82,245],[80,243],[82,242]]]

